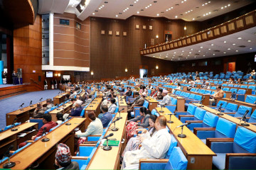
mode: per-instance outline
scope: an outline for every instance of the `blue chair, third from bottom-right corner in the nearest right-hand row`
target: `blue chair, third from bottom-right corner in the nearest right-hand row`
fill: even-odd
[[[218,122],[218,115],[206,112],[203,120],[189,120],[189,122],[191,124],[187,127],[190,130],[193,130],[193,128],[215,128]]]

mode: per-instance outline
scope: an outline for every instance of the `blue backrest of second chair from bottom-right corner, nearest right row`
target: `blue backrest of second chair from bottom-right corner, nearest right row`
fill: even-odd
[[[219,118],[216,125],[215,137],[235,137],[236,124],[226,120],[224,118]]]

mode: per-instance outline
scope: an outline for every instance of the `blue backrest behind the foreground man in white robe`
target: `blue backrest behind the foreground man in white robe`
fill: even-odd
[[[167,162],[165,169],[186,169],[188,160],[184,156],[180,147],[174,147],[171,152],[169,162]]]

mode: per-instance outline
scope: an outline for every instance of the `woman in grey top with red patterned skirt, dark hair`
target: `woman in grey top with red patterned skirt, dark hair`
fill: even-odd
[[[133,137],[133,135],[136,133],[135,130],[137,130],[137,128],[149,127],[150,115],[151,115],[151,111],[145,107],[142,107],[142,108],[139,108],[139,115],[136,118],[127,120],[127,123],[129,123],[126,127],[127,140],[129,140],[129,138]]]

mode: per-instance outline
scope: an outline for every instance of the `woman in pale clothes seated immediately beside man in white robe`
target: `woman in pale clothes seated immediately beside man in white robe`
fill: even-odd
[[[149,116],[149,134],[150,134],[150,136],[152,136],[154,134],[154,132],[156,132],[156,128],[154,128],[154,124],[156,123],[156,118],[157,118],[156,115]],[[137,129],[136,131],[137,132],[142,131],[141,136],[143,137],[144,133],[146,132],[146,129],[141,128],[141,129]],[[137,140],[137,137],[130,138],[129,142],[127,143],[127,146],[124,149],[124,152],[122,153],[122,157],[124,157],[124,154],[127,151],[139,149],[140,144],[141,144],[141,142],[139,142],[139,140]]]

